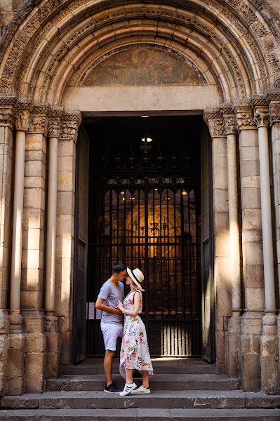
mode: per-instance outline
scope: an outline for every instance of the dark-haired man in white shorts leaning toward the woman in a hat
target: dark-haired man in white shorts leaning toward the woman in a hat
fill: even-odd
[[[116,306],[118,300],[124,300],[124,284],[126,267],[123,263],[116,263],[112,267],[112,276],[102,285],[95,307],[102,310],[101,330],[105,344],[104,371],[106,386],[104,392],[119,393],[112,380],[112,363],[116,352],[116,340],[124,333],[124,316]]]

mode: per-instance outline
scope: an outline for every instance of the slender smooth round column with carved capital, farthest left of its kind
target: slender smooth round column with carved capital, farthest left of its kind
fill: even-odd
[[[10,335],[8,349],[8,394],[24,391],[24,338],[20,314],[22,261],[22,207],[25,173],[25,134],[29,126],[29,100],[16,103],[15,179],[13,189],[13,237],[11,252]]]

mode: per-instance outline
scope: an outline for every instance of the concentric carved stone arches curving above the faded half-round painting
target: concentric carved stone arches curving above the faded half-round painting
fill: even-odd
[[[279,42],[261,3],[32,2],[3,41],[1,92],[60,105],[68,86],[88,81],[112,55],[145,46],[185,60],[222,100],[249,98],[280,86]]]

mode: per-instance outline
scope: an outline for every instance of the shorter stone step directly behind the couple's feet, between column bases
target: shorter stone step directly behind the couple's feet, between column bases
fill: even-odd
[[[114,375],[113,380],[119,389],[124,388],[124,379],[121,375]],[[141,379],[135,379],[135,383],[140,385]],[[169,390],[171,385],[172,390],[239,389],[239,379],[216,374],[156,374],[150,377],[149,384],[153,391]],[[104,385],[104,375],[71,375],[47,380],[47,390],[50,392],[61,390],[103,390]]]

